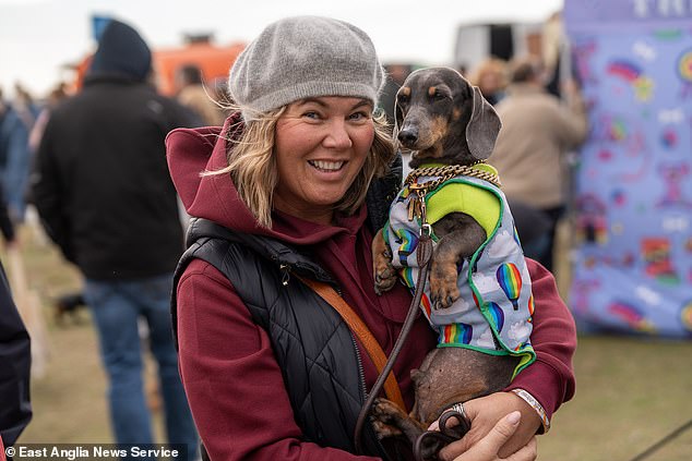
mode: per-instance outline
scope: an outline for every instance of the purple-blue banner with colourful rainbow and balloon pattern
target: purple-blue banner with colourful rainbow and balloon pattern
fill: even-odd
[[[566,0],[592,132],[575,175],[583,326],[692,338],[692,2]]]

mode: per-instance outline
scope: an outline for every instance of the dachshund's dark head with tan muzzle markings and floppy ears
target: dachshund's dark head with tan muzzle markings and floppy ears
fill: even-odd
[[[490,157],[500,118],[458,72],[430,68],[413,72],[396,94],[396,138],[413,151],[411,168],[425,161],[470,165]]]

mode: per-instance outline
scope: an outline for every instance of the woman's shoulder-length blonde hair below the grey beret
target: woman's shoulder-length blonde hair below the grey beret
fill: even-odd
[[[242,110],[234,107],[234,110]],[[244,108],[243,108],[244,109]],[[227,134],[228,166],[203,174],[230,174],[240,199],[263,228],[272,227],[274,190],[278,183],[274,155],[276,122],[286,106],[262,114],[253,114],[244,125],[231,126]],[[394,147],[384,113],[373,116],[374,139],[366,161],[334,209],[353,215],[365,202],[373,178],[383,177],[394,159]],[[236,135],[239,135],[236,137]]]

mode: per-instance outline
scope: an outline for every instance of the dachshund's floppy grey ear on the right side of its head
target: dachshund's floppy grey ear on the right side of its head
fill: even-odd
[[[494,108],[482,97],[480,89],[473,86],[474,110],[466,125],[468,150],[478,160],[490,157],[502,123]]]

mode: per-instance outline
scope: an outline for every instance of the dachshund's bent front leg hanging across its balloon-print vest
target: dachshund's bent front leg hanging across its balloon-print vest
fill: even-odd
[[[446,215],[433,230],[439,241],[430,264],[430,296],[434,308],[446,308],[460,296],[458,264],[485,242],[486,231],[464,213]]]

